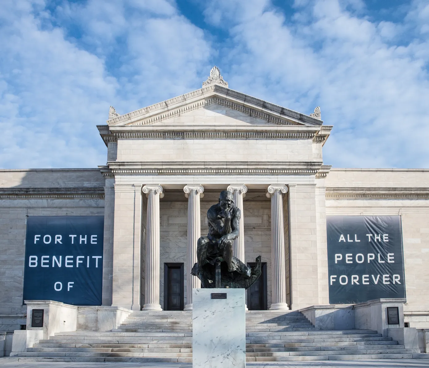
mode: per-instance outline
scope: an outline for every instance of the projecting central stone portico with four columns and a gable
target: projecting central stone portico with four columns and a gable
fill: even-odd
[[[263,255],[268,308],[326,303],[324,194],[316,178],[329,171],[321,147],[331,127],[320,114],[298,114],[209,80],[129,114],[113,109],[98,126],[109,151],[102,171],[115,192],[106,197],[115,214],[106,230],[112,273],[104,277],[103,300],[165,309],[164,265],[183,264],[180,297],[191,309],[199,280],[190,268],[205,212],[228,190],[243,214],[234,255],[245,263]]]

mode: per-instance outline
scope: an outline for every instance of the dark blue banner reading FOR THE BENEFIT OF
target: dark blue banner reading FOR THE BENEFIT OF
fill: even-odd
[[[30,216],[24,300],[101,305],[103,216]]]

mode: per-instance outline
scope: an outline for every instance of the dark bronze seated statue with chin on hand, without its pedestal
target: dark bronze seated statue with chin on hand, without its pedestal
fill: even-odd
[[[250,287],[261,274],[261,257],[256,267],[246,266],[233,256],[233,242],[239,236],[241,211],[234,205],[233,194],[221,191],[219,202],[207,211],[208,235],[198,239],[198,263],[191,274],[201,280],[203,288]]]

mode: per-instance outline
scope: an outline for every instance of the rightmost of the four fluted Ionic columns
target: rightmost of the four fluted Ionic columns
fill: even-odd
[[[267,197],[271,197],[272,304],[270,309],[288,309],[283,222],[283,194],[286,192],[286,185],[273,184],[268,187],[267,193]]]

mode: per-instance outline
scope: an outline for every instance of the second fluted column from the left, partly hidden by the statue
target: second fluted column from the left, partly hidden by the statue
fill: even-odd
[[[202,185],[185,185],[183,188],[185,197],[188,199],[187,218],[187,278],[186,278],[186,305],[184,310],[192,310],[192,289],[201,287],[201,283],[196,276],[190,274],[190,270],[196,263],[196,244],[201,236],[201,221],[199,211],[199,199],[204,196]]]

